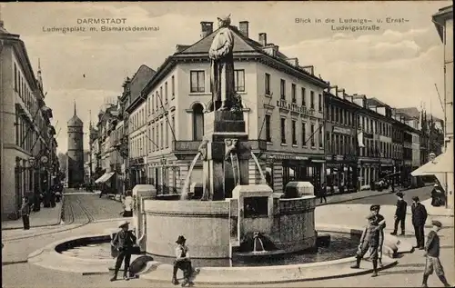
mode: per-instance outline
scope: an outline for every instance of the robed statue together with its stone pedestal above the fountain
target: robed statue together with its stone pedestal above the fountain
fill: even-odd
[[[234,33],[230,18],[220,16],[218,32],[208,50],[213,110],[205,114],[202,200],[231,197],[238,184],[248,184],[251,157],[241,98],[235,91]]]

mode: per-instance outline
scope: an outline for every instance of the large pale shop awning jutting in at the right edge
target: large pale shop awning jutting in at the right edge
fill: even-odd
[[[447,145],[447,149],[433,161],[420,166],[411,172],[412,176],[437,175],[453,173],[453,143]]]

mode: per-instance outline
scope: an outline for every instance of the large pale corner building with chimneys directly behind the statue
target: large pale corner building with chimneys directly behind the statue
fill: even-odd
[[[185,181],[204,134],[204,112],[213,107],[208,48],[216,32],[213,23],[202,22],[201,27],[202,39],[177,45],[143,90],[147,137],[153,140],[147,146],[149,181],[165,193],[177,191]],[[277,192],[293,180],[319,185],[325,162],[323,89],[328,83],[313,74],[313,67],[299,65],[297,58],[268,43],[267,34],[260,34],[258,41],[249,38],[248,22],[231,29],[235,89],[242,97],[249,142],[269,184]],[[250,183],[258,183],[252,159],[249,167]],[[198,162],[190,182],[201,181]]]

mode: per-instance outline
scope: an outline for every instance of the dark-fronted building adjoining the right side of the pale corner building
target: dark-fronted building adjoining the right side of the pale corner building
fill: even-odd
[[[358,187],[358,139],[357,111],[351,95],[344,89],[326,93],[326,183],[333,193],[345,189],[357,191]],[[343,188],[341,188],[343,187]],[[340,189],[341,188],[341,189]]]

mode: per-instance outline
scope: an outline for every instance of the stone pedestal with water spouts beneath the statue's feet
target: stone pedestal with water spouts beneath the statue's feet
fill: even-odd
[[[205,114],[203,159],[204,200],[232,197],[237,184],[247,185],[250,147],[242,112],[214,111]],[[231,155],[232,154],[232,155]]]

